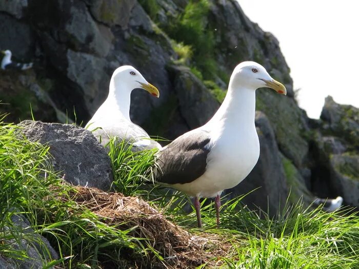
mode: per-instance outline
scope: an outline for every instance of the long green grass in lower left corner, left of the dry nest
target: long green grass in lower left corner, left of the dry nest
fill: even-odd
[[[96,267],[105,260],[121,267],[137,255],[148,256],[149,247],[129,235],[131,229],[117,229],[123,223],[107,224],[73,201],[76,190],[51,171],[48,148],[26,140],[18,129],[0,124],[0,256],[26,259],[25,250],[11,250],[11,239],[36,244],[32,234],[13,225],[14,214],[24,214],[35,232],[49,239],[66,268]],[[50,261],[42,248],[45,266]]]

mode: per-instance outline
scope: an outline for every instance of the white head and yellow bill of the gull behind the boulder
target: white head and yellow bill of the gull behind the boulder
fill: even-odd
[[[112,84],[112,86],[111,86]],[[156,87],[149,84],[147,80],[132,66],[121,66],[117,68],[111,77],[110,90],[127,90],[131,93],[134,89],[143,89],[151,95],[159,97]]]

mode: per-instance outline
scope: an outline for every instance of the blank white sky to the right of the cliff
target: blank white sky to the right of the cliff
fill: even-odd
[[[359,108],[358,1],[237,1],[252,22],[279,40],[309,117],[320,117],[328,95]]]

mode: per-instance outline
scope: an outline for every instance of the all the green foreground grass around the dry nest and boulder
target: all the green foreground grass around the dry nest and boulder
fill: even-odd
[[[17,133],[16,126],[0,124],[0,256],[26,259],[25,251],[10,247],[10,239],[25,238],[36,245],[33,234],[26,234],[11,224],[14,214],[24,214],[34,231],[48,238],[60,255],[59,260],[51,262],[43,246],[45,268],[56,263],[65,268],[170,266],[163,242],[155,242],[153,234],[138,230],[135,221],[139,216],[134,216],[135,221],[131,218],[125,221],[94,214],[91,206],[78,200],[78,197],[84,201],[89,197],[84,198],[79,190],[64,184],[51,170],[48,148]],[[204,228],[197,229],[194,211],[183,210],[188,197],[178,192],[166,194],[168,190],[142,183],[151,180],[154,151],[133,153],[124,143],[117,144],[118,147],[110,145],[115,172],[113,187],[128,196],[148,200],[185,231],[208,238],[203,250],[196,253],[200,256],[208,252],[212,257],[207,260],[208,267],[359,267],[359,219],[348,210],[325,213],[303,208],[300,202],[288,203],[276,218],[270,218],[263,211],[250,211],[240,197],[224,204],[221,227],[217,229],[213,204],[205,200]],[[77,192],[79,196],[73,198]],[[162,215],[157,215],[163,221]],[[137,223],[152,218],[144,216]],[[147,226],[147,231],[150,228]],[[223,249],[222,254],[209,254],[218,247]],[[186,251],[184,248],[183,252]]]

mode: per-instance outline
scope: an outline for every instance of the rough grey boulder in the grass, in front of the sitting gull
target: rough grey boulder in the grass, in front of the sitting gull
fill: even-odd
[[[24,120],[18,124],[31,141],[47,144],[55,171],[74,185],[109,190],[111,161],[92,133],[75,125]]]

